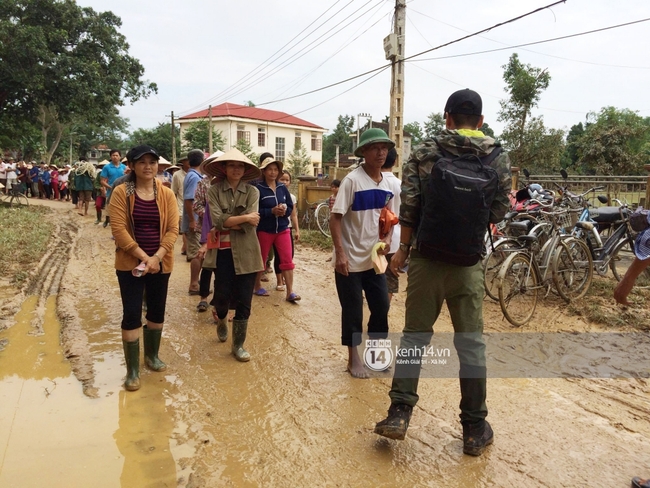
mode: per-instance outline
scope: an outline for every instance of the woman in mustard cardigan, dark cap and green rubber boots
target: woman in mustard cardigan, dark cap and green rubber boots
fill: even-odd
[[[174,267],[178,237],[176,197],[156,179],[158,153],[147,145],[127,154],[131,173],[113,187],[110,199],[111,231],[115,238],[115,269],[122,297],[122,344],[129,391],[140,388],[140,329],[145,364],[165,371],[158,357],[169,277]],[[116,180],[117,181],[117,180]],[[142,301],[146,292],[147,323],[142,327]]]

